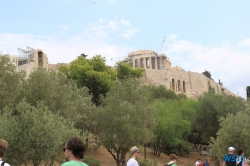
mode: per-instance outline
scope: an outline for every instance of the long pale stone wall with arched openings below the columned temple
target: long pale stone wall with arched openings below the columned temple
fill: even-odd
[[[184,93],[192,98],[200,97],[209,90],[209,86],[214,88],[216,93],[235,95],[201,73],[146,69],[145,75],[151,84],[164,85],[167,89],[172,89],[177,94]]]

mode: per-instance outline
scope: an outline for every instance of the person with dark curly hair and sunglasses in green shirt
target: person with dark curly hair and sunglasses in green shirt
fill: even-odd
[[[61,166],[88,166],[81,161],[85,151],[86,146],[80,138],[69,138],[63,148],[64,157],[67,162],[63,163]]]

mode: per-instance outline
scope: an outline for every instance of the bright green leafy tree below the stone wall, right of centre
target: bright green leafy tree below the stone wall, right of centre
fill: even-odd
[[[167,154],[189,152],[188,135],[191,133],[191,122],[194,118],[197,101],[193,99],[182,100],[156,100],[155,108],[158,124],[154,131],[155,137],[151,142],[154,154],[160,156]]]

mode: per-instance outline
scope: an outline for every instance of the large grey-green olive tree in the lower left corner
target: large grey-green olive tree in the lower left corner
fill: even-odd
[[[43,102],[33,107],[22,100],[16,111],[5,108],[0,112],[0,137],[9,143],[6,159],[13,165],[38,166],[49,160],[52,165],[65,141],[79,135],[73,123],[52,114]]]

